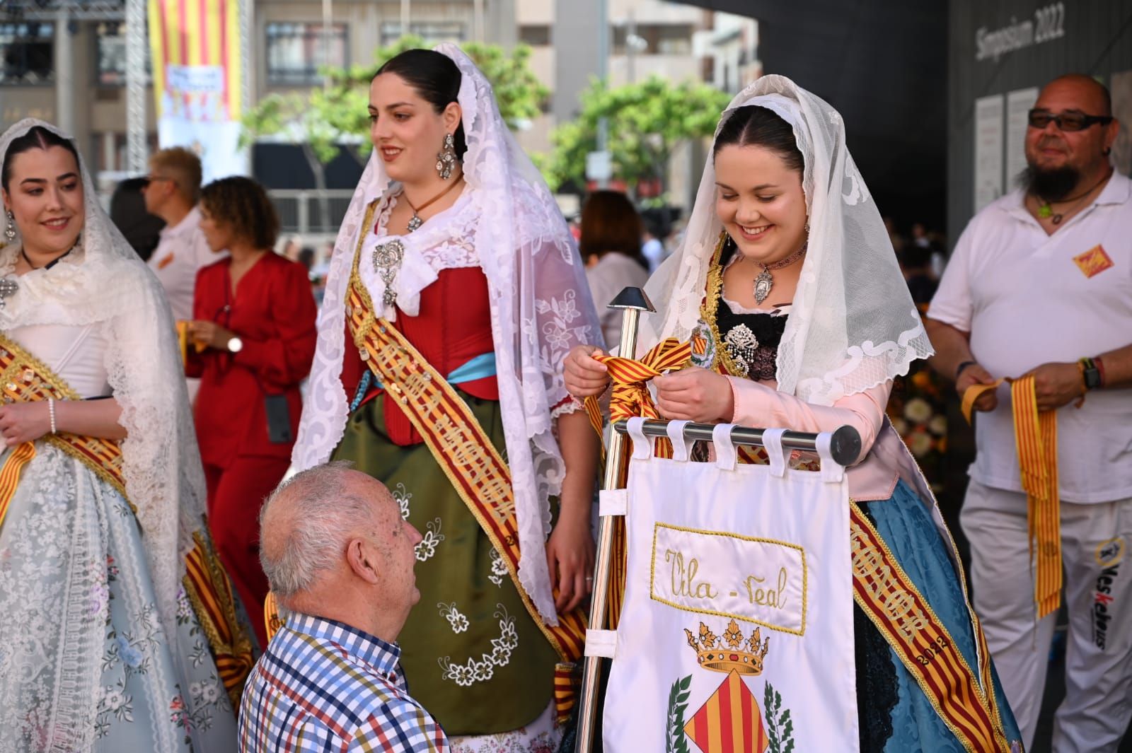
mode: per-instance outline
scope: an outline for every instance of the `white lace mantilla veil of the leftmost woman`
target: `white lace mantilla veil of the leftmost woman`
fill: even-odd
[[[26,119],[0,137],[0,159],[11,141],[40,126],[74,144],[54,126]],[[82,240],[52,268],[50,278],[28,272],[0,309],[0,330],[32,324],[108,327],[106,373],[122,408],[120,423],[126,495],[137,508],[161,624],[177,644],[177,595],[192,534],[204,526],[205,483],[189,412],[185,372],[165,293],[149,268],[98,205],[79,156],[86,213]],[[14,260],[20,242],[0,251]],[[32,293],[22,295],[20,293]],[[36,306],[57,298],[66,306]],[[185,689],[186,691],[188,689]]]

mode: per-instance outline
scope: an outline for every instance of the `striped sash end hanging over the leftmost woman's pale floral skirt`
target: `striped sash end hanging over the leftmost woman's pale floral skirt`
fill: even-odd
[[[212,543],[200,531],[192,535],[196,546],[185,557],[185,594],[192,604],[200,629],[208,639],[216,670],[232,708],[239,708],[243,683],[255,665],[251,639],[235,615],[235,598],[228,573]]]

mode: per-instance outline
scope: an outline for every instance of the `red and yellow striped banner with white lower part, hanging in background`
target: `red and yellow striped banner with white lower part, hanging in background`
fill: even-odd
[[[241,1],[148,0],[157,141],[195,152],[205,183],[246,172]]]

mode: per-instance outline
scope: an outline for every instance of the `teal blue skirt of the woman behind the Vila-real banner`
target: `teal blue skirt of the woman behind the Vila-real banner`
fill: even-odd
[[[860,502],[858,507],[928,599],[967,664],[978,666],[967,599],[928,508],[902,481],[887,500]],[[861,753],[963,753],[963,746],[943,724],[916,678],[856,605],[854,631]],[[1018,722],[993,670],[1006,739],[1020,741]]]

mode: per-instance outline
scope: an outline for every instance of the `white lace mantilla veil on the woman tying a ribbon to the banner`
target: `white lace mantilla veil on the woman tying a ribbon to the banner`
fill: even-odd
[[[717,136],[735,110],[747,105],[786,120],[805,159],[809,245],[779,344],[778,389],[832,405],[908,373],[912,361],[932,355],[932,344],[881,214],[846,148],[841,115],[790,79],[764,76],[731,101]],[[640,352],[666,337],[685,341],[696,327],[723,231],[715,190],[709,159],[684,243],[645,286],[658,311],[642,318]]]

